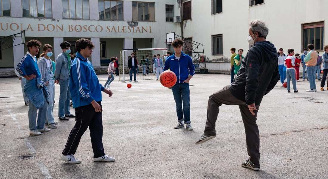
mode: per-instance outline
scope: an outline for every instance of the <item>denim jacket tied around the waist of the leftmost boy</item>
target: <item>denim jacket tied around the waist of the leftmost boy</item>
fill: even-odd
[[[28,97],[29,101],[31,101],[37,109],[44,106],[43,95],[46,97],[46,101],[49,104],[49,92],[41,78],[26,80],[24,92],[25,96]]]

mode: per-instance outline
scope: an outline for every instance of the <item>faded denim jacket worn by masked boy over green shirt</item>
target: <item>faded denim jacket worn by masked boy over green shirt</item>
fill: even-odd
[[[70,72],[68,71],[68,61],[67,56],[64,52],[58,55],[56,60],[55,68],[55,79],[67,80],[70,77]],[[71,60],[71,59],[69,59]]]

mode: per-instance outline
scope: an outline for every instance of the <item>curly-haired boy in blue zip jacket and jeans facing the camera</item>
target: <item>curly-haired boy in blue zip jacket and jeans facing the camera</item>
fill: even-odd
[[[176,84],[172,87],[178,116],[178,125],[174,128],[184,127],[184,121],[187,124],[186,129],[193,130],[190,124],[189,80],[195,75],[195,67],[191,57],[182,52],[183,41],[181,39],[175,39],[172,46],[175,53],[167,58],[163,71],[170,69],[177,77]]]

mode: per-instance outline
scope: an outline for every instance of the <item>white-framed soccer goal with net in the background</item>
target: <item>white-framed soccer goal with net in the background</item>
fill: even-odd
[[[165,64],[165,58],[167,48],[153,48],[153,49],[123,49],[120,51],[119,57],[119,81],[130,80],[130,70],[128,67],[129,56],[135,53],[135,58],[138,61],[138,68],[136,69],[136,80],[143,79],[156,79],[156,72],[153,69],[153,56],[160,55],[163,59],[163,67]],[[132,80],[134,80],[134,74],[132,74]]]

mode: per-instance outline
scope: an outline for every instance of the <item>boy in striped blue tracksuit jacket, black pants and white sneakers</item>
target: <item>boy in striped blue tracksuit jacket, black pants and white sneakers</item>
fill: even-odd
[[[88,39],[81,38],[76,41],[76,57],[70,69],[70,90],[73,107],[75,108],[75,125],[67,139],[62,152],[61,160],[70,163],[81,163],[74,157],[83,133],[89,127],[94,162],[114,162],[115,159],[105,154],[102,144],[102,95],[101,91],[109,97],[113,93],[103,87],[93,69],[88,57],[91,56],[94,45]]]

